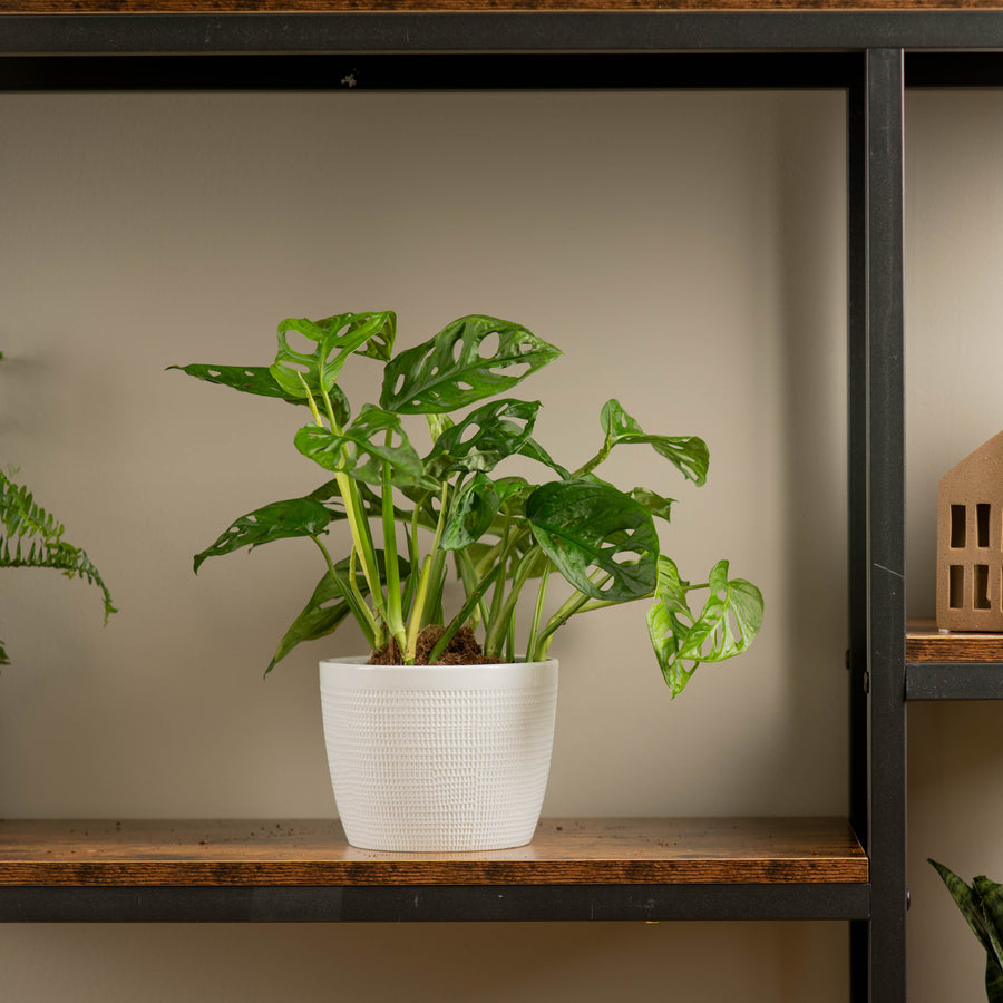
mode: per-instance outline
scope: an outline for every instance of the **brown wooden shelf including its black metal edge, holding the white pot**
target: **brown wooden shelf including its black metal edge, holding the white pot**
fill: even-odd
[[[349,846],[334,820],[0,821],[0,918],[865,918],[845,819],[548,819],[478,854]]]

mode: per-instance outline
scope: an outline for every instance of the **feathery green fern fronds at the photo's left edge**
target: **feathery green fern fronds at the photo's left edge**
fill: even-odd
[[[0,352],[0,359],[3,353]],[[62,538],[61,523],[37,505],[31,491],[14,481],[14,469],[0,470],[0,567],[50,567],[68,578],[82,578],[101,591],[105,623],[117,612],[98,569],[85,551]],[[0,665],[9,665],[0,641]]]

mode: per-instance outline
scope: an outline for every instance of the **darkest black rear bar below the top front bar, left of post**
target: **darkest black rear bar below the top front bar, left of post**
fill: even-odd
[[[802,52],[10,56],[0,59],[0,90],[836,88],[861,67],[857,55]]]

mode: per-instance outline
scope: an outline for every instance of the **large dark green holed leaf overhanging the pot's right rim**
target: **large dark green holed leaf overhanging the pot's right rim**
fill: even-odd
[[[659,538],[644,506],[595,477],[557,480],[526,503],[533,536],[580,592],[624,602],[647,595],[658,577]],[[596,583],[590,571],[608,575]]]

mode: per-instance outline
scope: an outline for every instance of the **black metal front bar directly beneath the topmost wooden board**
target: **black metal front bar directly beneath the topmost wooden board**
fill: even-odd
[[[0,52],[1003,48],[1003,11],[4,14]]]

